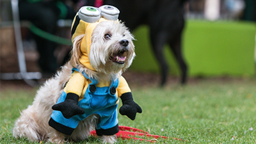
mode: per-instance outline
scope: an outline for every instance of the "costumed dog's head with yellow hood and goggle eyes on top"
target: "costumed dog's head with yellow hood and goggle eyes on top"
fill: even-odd
[[[88,10],[99,11],[99,19],[88,17]],[[124,72],[131,65],[135,56],[134,38],[124,23],[117,20],[118,13],[113,6],[101,6],[99,9],[85,6],[79,10],[72,26],[74,67],[81,65],[109,74]]]

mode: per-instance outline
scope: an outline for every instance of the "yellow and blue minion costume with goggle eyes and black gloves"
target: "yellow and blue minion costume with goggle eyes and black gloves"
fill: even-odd
[[[90,53],[90,38],[93,29],[102,21],[116,20],[118,22],[119,10],[114,6],[83,6],[77,13],[72,24],[72,41],[76,36],[83,35],[80,48],[83,55],[79,60],[84,67],[95,70],[90,65],[88,55]],[[72,69],[70,80],[61,93],[57,104],[52,106],[49,125],[63,134],[71,135],[80,121],[90,115],[100,116],[96,127],[98,136],[113,135],[119,131],[117,119],[118,98],[121,98],[123,106],[121,115],[127,115],[131,120],[136,113],[142,110],[132,99],[131,90],[124,77],[112,81],[97,81],[89,78],[78,68]]]

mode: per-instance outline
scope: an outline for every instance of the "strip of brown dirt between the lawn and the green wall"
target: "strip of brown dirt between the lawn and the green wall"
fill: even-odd
[[[132,72],[128,70],[122,76],[125,77],[127,83],[132,90],[138,88],[156,88],[159,87],[161,80],[161,75],[159,74],[150,74],[142,72]],[[189,77],[187,85],[195,85],[198,83],[255,83],[255,78],[250,77]],[[0,92],[3,90],[33,90],[38,88],[45,82],[45,79],[40,79],[38,81],[39,85],[32,87],[29,86],[23,80],[1,80],[0,81]],[[164,88],[173,88],[173,86],[180,85],[180,77],[168,76],[168,80]]]

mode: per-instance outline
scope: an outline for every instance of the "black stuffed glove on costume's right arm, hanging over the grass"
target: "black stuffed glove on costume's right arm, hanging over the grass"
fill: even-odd
[[[136,113],[142,113],[142,109],[132,99],[132,93],[127,92],[121,95],[123,106],[119,109],[121,115],[127,115],[131,120],[135,119]]]

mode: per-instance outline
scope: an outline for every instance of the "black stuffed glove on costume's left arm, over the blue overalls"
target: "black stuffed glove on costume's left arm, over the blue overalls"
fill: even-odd
[[[68,93],[64,102],[54,104],[52,109],[61,111],[65,118],[71,118],[74,115],[83,115],[84,109],[78,106],[79,96],[76,93]]]

